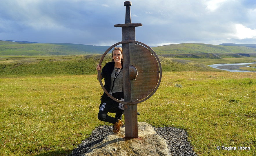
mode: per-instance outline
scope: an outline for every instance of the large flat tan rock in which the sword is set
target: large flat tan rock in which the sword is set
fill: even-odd
[[[146,122],[138,122],[138,138],[125,139],[125,128],[119,134],[108,134],[99,144],[81,156],[170,156],[166,140]]]

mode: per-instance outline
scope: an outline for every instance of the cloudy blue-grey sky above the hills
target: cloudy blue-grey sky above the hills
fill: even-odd
[[[256,44],[255,0],[132,0],[136,41]],[[0,40],[111,46],[122,40],[121,0],[1,0]]]

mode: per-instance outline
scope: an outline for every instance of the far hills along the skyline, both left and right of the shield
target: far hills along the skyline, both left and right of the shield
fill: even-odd
[[[254,45],[255,46],[255,45]],[[86,55],[103,54],[110,46],[94,46],[71,43],[26,43],[24,41],[0,41],[0,56],[46,56],[46,55]],[[256,47],[256,46],[255,46]],[[182,43],[153,47],[158,55],[184,54],[255,54],[253,45],[210,45],[203,43]],[[195,56],[195,55],[194,55]],[[192,57],[194,57],[192,56]],[[195,56],[196,58],[197,56]],[[217,56],[216,56],[217,57]]]

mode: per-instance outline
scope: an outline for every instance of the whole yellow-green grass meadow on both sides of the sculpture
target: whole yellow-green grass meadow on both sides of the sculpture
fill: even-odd
[[[164,72],[155,95],[138,104],[138,121],[186,130],[198,155],[255,155],[255,84],[253,72]],[[0,155],[68,155],[96,126],[106,124],[97,120],[102,93],[96,71],[2,75]]]

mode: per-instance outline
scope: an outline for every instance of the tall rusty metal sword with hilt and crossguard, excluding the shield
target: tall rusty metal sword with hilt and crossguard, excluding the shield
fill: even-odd
[[[124,2],[126,6],[125,24],[119,25],[122,27],[122,41],[134,40],[135,41],[135,26],[132,25],[130,6],[132,2]],[[118,26],[118,27],[119,27]],[[138,25],[138,26],[142,26]],[[117,27],[117,25],[115,25]],[[124,78],[124,101],[132,102],[131,98],[131,81],[129,74],[130,66],[130,46],[129,43],[123,43],[123,78]],[[136,138],[138,137],[138,118],[137,118],[137,104],[126,104],[124,106],[124,126],[125,137]]]

